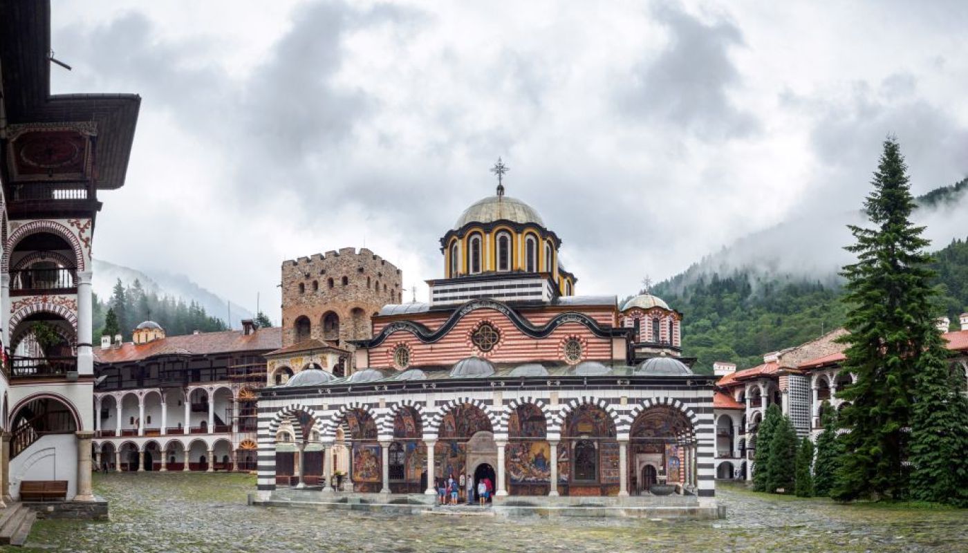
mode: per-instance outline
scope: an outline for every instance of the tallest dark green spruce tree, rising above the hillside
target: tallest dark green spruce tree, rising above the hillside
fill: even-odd
[[[928,241],[911,222],[915,201],[896,139],[887,138],[864,208],[870,229],[850,226],[857,242],[847,247],[857,262],[841,273],[850,306],[841,341],[843,368],[854,384],[837,392],[851,402],[839,419],[844,454],[832,497],[900,499],[907,493],[915,378],[924,355],[941,358],[936,339],[932,272],[925,267]]]

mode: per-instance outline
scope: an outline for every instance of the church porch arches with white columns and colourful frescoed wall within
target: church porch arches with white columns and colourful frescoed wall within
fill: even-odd
[[[466,399],[428,414],[405,402],[348,404],[326,417],[300,405],[281,410],[267,436],[276,484],[332,491],[336,477],[345,491],[435,494],[434,478],[466,474],[492,478],[498,496],[648,495],[657,484],[680,492],[697,485],[695,418],[679,406],[647,400],[619,415],[592,400],[552,413],[527,398],[496,414]],[[344,475],[341,446],[351,460]]]

